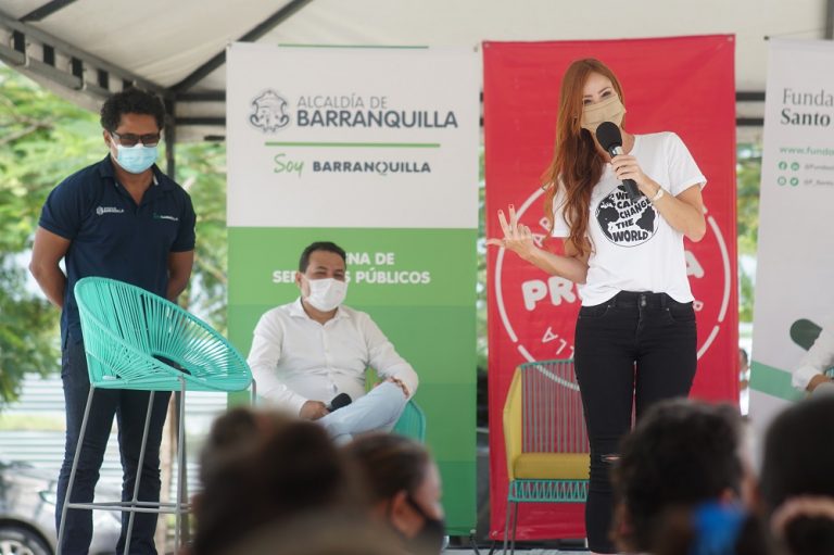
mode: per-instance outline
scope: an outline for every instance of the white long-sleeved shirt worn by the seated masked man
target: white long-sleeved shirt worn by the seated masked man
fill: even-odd
[[[340,306],[324,325],[307,316],[301,299],[277,306],[255,326],[249,365],[258,395],[293,414],[307,401],[329,404],[339,393],[365,394],[368,367],[417,391],[417,374],[370,316]]]

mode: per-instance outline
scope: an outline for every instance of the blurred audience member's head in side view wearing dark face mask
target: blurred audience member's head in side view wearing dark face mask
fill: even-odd
[[[426,449],[394,433],[362,436],[344,447],[368,488],[371,513],[412,554],[440,553],[445,535],[440,472]]]

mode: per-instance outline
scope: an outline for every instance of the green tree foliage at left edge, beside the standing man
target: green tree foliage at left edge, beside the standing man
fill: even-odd
[[[24,373],[58,367],[58,316],[27,276],[40,206],[75,168],[103,156],[96,118],[0,66],[0,403]]]

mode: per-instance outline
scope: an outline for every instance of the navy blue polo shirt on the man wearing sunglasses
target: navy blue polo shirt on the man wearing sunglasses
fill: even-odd
[[[110,155],[64,179],[43,204],[40,227],[71,241],[64,257],[62,344],[67,337],[81,337],[76,281],[108,277],[166,297],[168,254],[194,249],[190,197],[156,165],[152,169],[154,182],[139,205],[117,182]]]

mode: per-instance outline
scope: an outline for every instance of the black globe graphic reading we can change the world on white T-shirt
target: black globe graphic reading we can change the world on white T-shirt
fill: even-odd
[[[596,206],[596,222],[603,235],[619,247],[636,247],[657,232],[657,213],[648,199],[629,200],[620,185]]]

